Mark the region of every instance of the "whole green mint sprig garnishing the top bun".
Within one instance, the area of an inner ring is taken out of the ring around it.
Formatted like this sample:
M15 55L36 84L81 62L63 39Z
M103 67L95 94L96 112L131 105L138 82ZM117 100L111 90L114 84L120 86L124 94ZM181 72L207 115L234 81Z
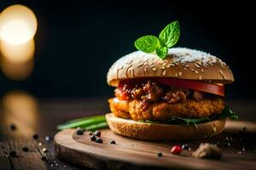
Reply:
M180 28L178 21L173 21L166 26L159 37L143 36L134 42L135 47L145 53L155 52L160 59L165 59L168 54L168 48L172 48L180 37Z

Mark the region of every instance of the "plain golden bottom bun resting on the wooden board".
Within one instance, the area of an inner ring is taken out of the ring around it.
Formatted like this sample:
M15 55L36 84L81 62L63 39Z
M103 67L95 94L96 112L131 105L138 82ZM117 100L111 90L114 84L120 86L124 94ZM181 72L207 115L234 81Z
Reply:
M211 137L224 130L225 119L195 125L136 122L106 114L109 128L123 136L143 140L190 140Z

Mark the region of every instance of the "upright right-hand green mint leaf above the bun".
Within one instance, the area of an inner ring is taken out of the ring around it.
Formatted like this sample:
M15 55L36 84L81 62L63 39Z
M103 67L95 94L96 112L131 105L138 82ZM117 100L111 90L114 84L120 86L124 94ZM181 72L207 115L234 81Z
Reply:
M166 26L159 35L160 43L167 48L172 48L180 36L178 21L174 21L168 26Z

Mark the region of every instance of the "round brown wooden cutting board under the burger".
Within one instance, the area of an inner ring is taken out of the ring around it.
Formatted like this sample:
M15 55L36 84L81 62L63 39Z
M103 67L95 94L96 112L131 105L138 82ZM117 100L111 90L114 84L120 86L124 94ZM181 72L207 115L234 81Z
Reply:
M150 142L128 139L103 129L102 144L90 140L90 132L77 135L67 129L55 135L55 154L64 161L95 169L254 169L256 167L255 135L221 133L210 139L190 142ZM111 140L116 144L110 144ZM220 160L191 157L201 142L218 143L223 150ZM172 155L173 144L189 144L190 150ZM244 147L244 148L243 148ZM244 149L244 150L243 150ZM163 156L159 157L161 152Z

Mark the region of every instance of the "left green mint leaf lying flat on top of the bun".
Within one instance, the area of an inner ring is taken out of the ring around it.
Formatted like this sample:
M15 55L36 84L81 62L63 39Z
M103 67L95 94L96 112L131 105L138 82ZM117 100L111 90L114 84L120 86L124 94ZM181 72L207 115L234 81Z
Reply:
M145 53L152 53L156 48L160 47L160 41L154 36L144 36L138 38L136 42L134 42L134 45L137 49Z

